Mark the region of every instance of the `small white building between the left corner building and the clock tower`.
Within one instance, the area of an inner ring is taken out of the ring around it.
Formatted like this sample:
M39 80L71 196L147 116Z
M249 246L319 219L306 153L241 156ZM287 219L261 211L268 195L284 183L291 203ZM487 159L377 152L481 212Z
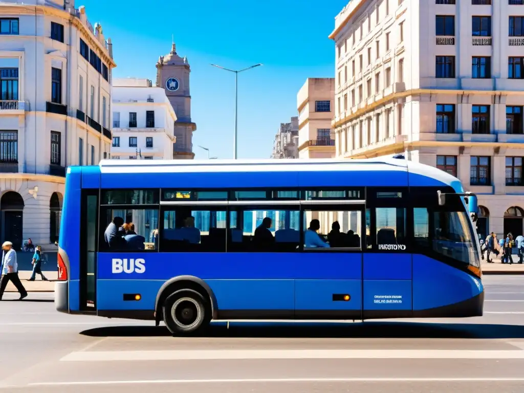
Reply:
M113 81L113 159L172 160L177 116L166 91L147 79Z

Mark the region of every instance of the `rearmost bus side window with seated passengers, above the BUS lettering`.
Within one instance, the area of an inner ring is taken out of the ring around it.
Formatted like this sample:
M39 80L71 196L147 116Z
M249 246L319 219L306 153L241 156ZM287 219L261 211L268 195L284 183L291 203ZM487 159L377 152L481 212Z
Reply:
M156 250L158 209L101 208L101 251Z

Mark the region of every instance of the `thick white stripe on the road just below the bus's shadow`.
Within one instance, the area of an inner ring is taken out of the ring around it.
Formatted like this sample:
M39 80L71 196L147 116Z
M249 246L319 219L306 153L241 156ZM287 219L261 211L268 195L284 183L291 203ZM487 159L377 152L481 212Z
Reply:
M202 350L71 352L61 362L238 359L524 359L524 351L471 350Z

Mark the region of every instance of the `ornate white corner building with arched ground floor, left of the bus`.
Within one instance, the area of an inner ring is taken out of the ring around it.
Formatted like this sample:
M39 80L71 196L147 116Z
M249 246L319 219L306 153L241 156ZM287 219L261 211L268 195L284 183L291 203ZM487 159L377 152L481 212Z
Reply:
M0 3L0 240L58 239L65 171L110 152L111 41L85 8Z

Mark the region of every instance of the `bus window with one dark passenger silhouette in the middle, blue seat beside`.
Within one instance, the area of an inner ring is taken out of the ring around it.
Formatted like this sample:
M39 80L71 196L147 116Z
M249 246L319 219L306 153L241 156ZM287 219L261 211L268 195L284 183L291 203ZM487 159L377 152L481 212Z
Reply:
M298 210L230 212L228 252L294 252L300 244Z

